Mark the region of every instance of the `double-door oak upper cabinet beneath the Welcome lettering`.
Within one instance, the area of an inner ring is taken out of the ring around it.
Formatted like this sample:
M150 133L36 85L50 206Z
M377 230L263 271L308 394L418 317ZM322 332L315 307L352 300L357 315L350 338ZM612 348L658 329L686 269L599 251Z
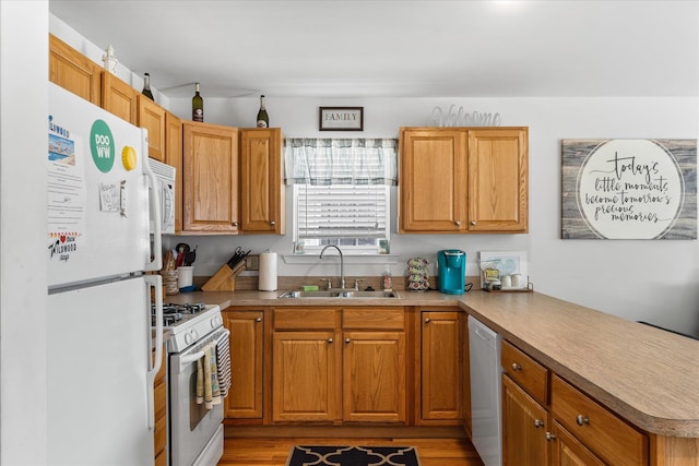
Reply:
M528 128L401 128L400 232L526 232L528 145Z

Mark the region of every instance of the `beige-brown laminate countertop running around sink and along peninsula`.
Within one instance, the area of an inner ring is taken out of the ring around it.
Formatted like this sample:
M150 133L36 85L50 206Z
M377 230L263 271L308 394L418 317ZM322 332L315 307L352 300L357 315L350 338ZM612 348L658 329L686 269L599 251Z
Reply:
M538 292L395 299L288 298L279 291L190 292L166 302L229 306L460 307L623 418L651 433L699 438L699 340ZM351 302L350 302L351 301Z

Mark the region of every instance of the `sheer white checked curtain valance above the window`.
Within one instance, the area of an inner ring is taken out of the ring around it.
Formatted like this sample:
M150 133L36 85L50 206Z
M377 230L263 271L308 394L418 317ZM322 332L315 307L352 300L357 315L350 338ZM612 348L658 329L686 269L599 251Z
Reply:
M398 184L395 139L287 139L287 184Z

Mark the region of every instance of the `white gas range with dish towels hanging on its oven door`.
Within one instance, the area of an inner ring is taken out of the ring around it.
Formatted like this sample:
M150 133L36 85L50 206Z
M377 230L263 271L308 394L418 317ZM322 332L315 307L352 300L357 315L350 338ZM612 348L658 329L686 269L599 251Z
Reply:
M163 320L169 332L169 464L215 466L223 456L223 401L209 407L197 401L198 371L206 345L227 348L229 332L218 306L166 303Z

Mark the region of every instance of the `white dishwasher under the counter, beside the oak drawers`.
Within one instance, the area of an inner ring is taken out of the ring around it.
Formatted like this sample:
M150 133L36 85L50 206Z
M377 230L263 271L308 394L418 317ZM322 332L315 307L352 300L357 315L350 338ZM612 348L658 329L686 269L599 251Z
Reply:
M485 466L502 465L502 337L469 315L472 439Z

